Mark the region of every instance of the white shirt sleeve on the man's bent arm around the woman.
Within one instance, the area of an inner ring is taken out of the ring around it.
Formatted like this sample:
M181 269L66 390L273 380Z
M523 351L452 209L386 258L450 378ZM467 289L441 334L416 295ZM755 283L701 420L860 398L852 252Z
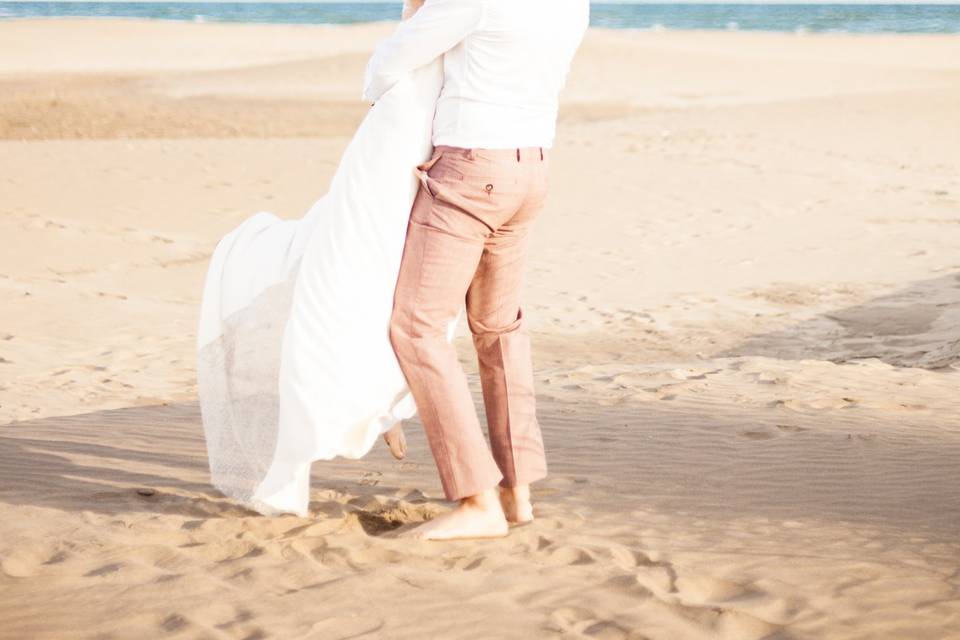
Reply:
M363 99L380 99L406 73L449 51L483 19L483 0L426 0L382 41L367 63Z

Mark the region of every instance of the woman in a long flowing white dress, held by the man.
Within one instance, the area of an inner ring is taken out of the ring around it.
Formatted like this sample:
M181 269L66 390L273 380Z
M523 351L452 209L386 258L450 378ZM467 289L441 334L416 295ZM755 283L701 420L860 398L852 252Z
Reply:
M388 327L442 82L441 58L403 78L303 218L257 213L213 252L197 336L211 481L264 515L307 514L315 460L360 458L381 435L404 455L416 407Z

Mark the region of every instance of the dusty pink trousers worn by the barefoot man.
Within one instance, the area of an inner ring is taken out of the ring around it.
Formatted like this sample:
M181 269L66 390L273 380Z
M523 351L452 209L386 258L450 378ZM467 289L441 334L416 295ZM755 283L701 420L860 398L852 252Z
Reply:
M418 167L390 339L448 500L546 476L530 338L520 308L549 150L438 146ZM449 322L466 303L487 414L484 440Z

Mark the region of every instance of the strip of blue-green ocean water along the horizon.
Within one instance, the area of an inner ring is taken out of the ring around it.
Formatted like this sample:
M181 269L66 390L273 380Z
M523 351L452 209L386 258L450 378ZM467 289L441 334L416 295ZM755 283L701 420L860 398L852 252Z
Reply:
M399 2L5 2L0 20L118 17L192 22L344 24L397 20ZM616 29L960 33L960 4L604 4L591 24Z

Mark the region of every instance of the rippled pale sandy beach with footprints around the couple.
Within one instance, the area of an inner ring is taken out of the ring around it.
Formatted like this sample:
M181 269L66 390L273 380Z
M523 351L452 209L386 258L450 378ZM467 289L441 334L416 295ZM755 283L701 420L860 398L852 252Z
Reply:
M588 33L533 526L391 537L449 508L416 422L309 518L209 486L207 261L325 192L391 29L0 22L0 638L960 638L955 36Z

